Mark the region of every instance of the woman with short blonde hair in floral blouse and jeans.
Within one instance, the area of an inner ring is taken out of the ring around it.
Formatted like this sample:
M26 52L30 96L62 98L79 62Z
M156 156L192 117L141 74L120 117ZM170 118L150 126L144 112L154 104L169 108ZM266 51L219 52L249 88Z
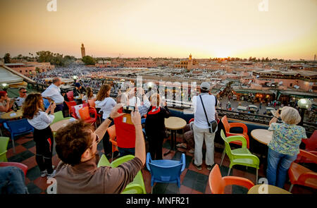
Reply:
M282 119L282 123L276 123L278 117ZM283 107L280 114L277 111L270 121L268 130L273 131L273 139L268 143L266 175L269 185L284 188L287 171L297 159L302 139L307 138L305 128L297 126L300 121L299 112L290 106Z

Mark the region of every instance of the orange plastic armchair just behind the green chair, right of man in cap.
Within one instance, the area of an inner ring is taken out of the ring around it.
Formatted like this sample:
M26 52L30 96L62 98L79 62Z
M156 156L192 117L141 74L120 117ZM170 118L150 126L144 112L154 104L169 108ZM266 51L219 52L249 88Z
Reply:
M218 121L218 123L220 120ZM230 137L234 135L241 135L247 140L247 148L249 149L249 136L248 136L248 128L247 125L244 123L229 123L227 116L223 116L221 118L221 122L223 123L223 127L225 128L225 136ZM243 129L242 133L230 133L230 128L240 127ZM235 145L242 145L242 142L240 141L232 141L230 142ZM223 155L221 156L221 161L223 161L223 158L225 157L225 149L223 149Z

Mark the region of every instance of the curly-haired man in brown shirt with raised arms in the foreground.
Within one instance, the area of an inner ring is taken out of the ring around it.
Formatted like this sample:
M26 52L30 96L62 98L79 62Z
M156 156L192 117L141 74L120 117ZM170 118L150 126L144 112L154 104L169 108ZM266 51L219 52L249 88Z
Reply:
M97 130L84 121L75 121L56 133L56 152L61 162L56 169L57 193L115 193L122 192L145 164L145 144L139 111L132 111L131 121L135 128L135 158L117 168L97 168L97 145L104 137L122 104L117 104Z

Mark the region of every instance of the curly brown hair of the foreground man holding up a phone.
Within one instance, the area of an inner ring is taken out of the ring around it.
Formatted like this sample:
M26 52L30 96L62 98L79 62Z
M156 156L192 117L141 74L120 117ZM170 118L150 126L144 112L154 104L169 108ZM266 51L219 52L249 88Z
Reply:
M56 153L61 161L72 166L80 164L82 154L92 145L92 125L84 121L73 121L60 128L55 137Z

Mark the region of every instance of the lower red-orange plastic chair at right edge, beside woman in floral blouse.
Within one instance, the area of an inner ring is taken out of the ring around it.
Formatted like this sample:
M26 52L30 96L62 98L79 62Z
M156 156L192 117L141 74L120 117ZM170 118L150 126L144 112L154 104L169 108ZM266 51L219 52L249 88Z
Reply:
M317 164L317 156L315 154L299 149L299 156L305 157ZM292 191L295 184L315 189L317 188L317 173L300 164L293 162L290 169L288 169L288 176L290 177L290 183L292 183L289 192Z

